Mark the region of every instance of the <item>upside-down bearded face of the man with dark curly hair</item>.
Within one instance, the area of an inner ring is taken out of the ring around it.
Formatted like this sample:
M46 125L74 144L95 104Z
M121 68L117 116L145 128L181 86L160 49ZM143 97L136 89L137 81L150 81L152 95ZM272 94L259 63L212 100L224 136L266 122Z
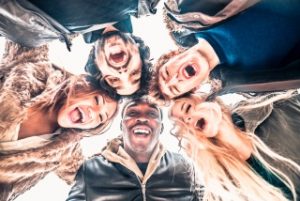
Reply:
M140 87L142 60L138 44L125 33L113 32L102 39L96 63L103 79L120 95L130 95Z

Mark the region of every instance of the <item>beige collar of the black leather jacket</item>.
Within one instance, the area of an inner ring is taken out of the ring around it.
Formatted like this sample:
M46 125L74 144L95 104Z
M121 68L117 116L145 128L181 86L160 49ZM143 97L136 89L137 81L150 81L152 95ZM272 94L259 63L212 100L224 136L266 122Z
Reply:
M160 163L160 159L163 157L165 152L166 150L164 146L159 142L155 146L154 151L150 157L145 175L143 175L135 160L124 150L123 139L121 137L111 140L104 148L104 151L101 153L101 155L108 161L119 163L128 168L140 178L142 184L145 184L151 177L151 175L155 172Z

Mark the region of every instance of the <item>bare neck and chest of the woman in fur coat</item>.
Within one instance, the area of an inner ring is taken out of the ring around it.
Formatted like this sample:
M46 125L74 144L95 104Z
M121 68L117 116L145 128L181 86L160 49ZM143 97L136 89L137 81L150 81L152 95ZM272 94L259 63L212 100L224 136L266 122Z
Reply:
M53 133L57 128L57 113L28 109L28 118L22 122L18 139Z

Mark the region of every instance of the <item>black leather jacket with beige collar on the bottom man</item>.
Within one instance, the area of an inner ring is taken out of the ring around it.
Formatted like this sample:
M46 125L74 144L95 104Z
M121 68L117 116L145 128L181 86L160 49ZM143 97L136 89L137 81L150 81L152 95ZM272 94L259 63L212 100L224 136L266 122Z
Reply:
M118 148L113 148L113 147ZM79 170L67 201L200 200L193 166L180 154L158 144L145 174L118 140Z

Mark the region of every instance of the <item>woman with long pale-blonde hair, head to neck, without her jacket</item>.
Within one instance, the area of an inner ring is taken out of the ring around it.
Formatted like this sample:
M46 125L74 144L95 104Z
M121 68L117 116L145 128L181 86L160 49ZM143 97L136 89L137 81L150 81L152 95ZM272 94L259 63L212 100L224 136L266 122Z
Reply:
M195 94L179 98L170 117L173 132L203 172L204 200L297 200L291 180L265 158L286 163L298 174L299 166L235 126L218 99L206 102Z

